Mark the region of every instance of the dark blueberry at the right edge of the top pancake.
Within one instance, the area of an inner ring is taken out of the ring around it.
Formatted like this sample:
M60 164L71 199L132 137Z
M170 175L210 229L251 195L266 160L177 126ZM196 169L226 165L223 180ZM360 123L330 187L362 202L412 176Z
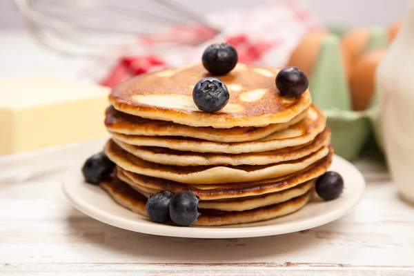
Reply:
M309 81L304 71L297 67L286 67L276 76L276 86L280 95L296 98L308 89Z

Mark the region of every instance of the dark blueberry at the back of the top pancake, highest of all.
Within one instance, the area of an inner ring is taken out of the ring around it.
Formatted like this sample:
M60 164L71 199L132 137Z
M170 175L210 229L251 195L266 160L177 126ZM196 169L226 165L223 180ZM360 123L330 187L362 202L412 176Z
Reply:
M228 43L211 44L204 50L203 66L213 75L226 75L237 64L237 51Z

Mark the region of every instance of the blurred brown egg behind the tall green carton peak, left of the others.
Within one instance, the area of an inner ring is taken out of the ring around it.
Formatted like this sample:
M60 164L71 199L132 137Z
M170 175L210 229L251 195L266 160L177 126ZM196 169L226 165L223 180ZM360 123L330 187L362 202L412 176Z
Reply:
M313 67L319 56L321 45L329 34L326 30L313 30L302 37L295 50L290 55L288 66L301 68L309 78L312 76ZM341 48L344 68L348 68L348 54L345 48Z

